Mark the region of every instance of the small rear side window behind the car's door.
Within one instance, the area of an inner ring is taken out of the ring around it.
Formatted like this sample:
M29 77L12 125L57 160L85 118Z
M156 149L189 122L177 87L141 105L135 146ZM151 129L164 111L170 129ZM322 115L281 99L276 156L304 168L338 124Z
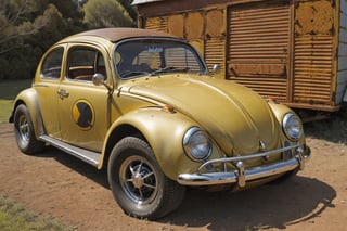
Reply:
M41 78L59 79L61 77L64 49L59 48L49 53L41 67Z

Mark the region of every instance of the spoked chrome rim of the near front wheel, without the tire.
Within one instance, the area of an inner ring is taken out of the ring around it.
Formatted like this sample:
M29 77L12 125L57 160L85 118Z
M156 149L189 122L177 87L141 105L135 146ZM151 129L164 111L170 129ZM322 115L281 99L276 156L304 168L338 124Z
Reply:
M151 204L158 193L154 167L141 156L126 158L119 170L119 180L127 196L137 204Z

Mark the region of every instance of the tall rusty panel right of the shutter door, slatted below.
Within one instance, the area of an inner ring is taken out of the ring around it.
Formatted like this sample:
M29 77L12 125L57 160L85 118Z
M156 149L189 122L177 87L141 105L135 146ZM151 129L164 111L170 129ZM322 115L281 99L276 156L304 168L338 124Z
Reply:
M295 18L294 102L332 105L335 74L331 1L300 2Z

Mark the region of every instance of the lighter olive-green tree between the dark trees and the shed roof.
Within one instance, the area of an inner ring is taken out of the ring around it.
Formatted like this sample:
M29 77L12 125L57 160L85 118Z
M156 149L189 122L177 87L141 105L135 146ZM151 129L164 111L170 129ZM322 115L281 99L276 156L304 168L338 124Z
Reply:
M89 28L136 26L136 21L117 0L89 0L83 10Z

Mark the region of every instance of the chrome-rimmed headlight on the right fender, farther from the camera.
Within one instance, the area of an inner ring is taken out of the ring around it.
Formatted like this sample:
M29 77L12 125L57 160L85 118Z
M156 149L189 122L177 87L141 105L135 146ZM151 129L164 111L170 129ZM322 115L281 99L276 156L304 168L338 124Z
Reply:
M303 136L303 124L300 118L288 113L283 118L283 130L286 137L292 141L298 141Z

